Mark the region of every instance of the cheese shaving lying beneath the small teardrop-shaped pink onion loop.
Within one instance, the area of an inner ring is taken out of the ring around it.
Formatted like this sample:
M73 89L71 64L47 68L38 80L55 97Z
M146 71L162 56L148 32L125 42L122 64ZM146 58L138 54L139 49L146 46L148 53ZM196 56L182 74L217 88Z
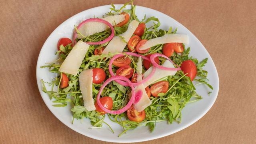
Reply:
M169 60L166 60L162 66L167 68L175 68L172 62L170 62ZM153 67L151 66L146 72L144 72L143 79L148 77L149 74L152 72L152 70L153 70ZM162 70L162 69L156 68L156 72L154 73L154 75L149 80L143 83L144 87L146 88L147 86L149 86L156 80L159 80L160 78L164 78L166 76L174 76L176 72L177 72L176 70Z

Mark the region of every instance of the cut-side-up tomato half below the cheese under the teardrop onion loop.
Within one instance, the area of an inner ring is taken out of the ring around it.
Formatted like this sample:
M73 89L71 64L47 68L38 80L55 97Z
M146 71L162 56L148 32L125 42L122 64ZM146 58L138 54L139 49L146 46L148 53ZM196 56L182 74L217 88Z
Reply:
M161 92L166 93L168 88L169 88L169 82L160 81L160 82L153 84L153 86L151 86L151 88L150 88L150 91L153 96L157 97L157 95Z

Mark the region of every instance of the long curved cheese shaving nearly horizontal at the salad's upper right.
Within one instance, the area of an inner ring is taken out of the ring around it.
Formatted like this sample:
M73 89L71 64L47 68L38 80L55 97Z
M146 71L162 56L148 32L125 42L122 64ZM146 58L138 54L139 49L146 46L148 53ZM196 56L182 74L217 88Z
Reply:
M188 44L189 39L187 34L165 34L164 36L153 38L148 40L143 46L140 47L140 50L146 50L157 44L166 44L170 42L179 42Z

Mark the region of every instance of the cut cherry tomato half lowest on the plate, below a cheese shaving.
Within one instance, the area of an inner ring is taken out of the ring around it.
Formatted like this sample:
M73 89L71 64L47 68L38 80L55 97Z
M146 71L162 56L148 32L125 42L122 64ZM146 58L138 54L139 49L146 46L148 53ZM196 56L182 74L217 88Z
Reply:
M142 122L142 120L145 119L146 113L145 110L142 110L141 112L137 112L133 106L131 106L127 110L127 116L129 120L132 120L134 122Z

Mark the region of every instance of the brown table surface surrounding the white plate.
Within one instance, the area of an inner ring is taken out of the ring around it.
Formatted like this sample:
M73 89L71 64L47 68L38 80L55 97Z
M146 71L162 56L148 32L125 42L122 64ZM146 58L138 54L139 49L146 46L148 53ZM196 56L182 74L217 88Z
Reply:
M45 40L83 10L127 0L0 0L0 143L98 143L60 122L36 84ZM188 128L145 144L256 143L256 1L136 0L188 28L211 55L220 79L209 112Z

